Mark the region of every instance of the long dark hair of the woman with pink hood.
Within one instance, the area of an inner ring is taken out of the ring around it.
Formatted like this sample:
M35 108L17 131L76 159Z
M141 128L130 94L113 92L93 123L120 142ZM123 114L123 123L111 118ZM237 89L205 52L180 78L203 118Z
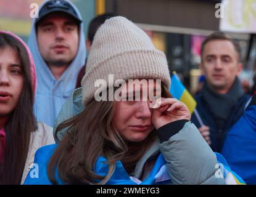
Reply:
M4 126L6 147L0 163L0 185L20 184L30 145L30 134L36 130L33 115L33 87L30 58L23 44L10 34L0 33L0 50L11 47L19 54L23 74L23 90L15 110Z

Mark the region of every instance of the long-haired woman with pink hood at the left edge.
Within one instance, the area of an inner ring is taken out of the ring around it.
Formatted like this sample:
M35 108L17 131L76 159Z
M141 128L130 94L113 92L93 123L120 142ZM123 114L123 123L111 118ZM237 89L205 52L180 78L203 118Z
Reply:
M0 31L0 185L20 184L38 148L54 143L52 128L36 123L36 70L25 42Z

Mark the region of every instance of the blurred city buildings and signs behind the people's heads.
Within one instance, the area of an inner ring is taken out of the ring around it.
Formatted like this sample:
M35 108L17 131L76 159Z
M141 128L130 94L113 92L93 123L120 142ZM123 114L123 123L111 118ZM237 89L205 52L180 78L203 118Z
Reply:
M0 0L0 30L13 31L27 41L31 28L30 5L41 2L43 0ZM103 13L122 15L140 26L152 38L155 47L165 52L170 70L179 74L192 94L197 90L200 76L202 41L213 31L225 31L241 47L244 71L240 78L252 86L256 60L256 0L72 2L81 12L85 34L90 20Z

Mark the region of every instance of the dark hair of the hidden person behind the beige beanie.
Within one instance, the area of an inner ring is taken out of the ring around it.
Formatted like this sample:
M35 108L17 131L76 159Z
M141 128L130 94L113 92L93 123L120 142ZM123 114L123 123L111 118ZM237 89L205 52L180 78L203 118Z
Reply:
M99 28L99 26L101 26L105 22L105 20L112 18L112 17L116 17L116 16L117 15L115 15L115 14L105 13L105 14L98 15L97 17L93 18L93 20L91 20L91 22L89 23L87 39L89 39L89 41L91 43L93 43L94 36L95 36L96 31Z

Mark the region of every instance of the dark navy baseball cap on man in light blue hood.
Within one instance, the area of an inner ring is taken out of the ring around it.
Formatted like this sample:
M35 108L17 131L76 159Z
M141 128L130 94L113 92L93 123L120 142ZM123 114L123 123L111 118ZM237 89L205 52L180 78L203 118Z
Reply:
M78 17L75 9L70 5L68 1L65 0L51 0L46 2L44 6L40 9L38 18L36 18L36 23L39 22L43 17L52 12L64 12L72 16L78 23L81 23L81 19Z

